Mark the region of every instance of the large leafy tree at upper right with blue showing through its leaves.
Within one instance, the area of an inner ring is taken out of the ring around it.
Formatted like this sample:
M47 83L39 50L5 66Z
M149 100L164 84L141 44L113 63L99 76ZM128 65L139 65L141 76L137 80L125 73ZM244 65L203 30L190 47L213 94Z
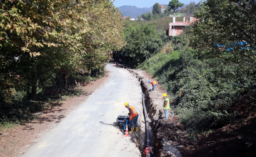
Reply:
M207 0L195 13L191 45L203 58L221 58L220 66L236 88L255 90L256 4L248 0ZM217 65L215 65L217 66Z

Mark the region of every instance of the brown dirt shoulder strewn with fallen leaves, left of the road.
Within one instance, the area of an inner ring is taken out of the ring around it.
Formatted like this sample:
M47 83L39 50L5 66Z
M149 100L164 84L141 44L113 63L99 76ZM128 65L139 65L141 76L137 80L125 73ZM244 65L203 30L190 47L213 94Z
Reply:
M106 71L104 77L82 87L86 89L85 93L64 100L61 106L55 106L51 110L38 114L37 118L24 125L15 125L13 128L1 130L0 156L17 157L24 154L29 147L37 143L40 137L82 104L91 93L101 88L108 77L109 73Z

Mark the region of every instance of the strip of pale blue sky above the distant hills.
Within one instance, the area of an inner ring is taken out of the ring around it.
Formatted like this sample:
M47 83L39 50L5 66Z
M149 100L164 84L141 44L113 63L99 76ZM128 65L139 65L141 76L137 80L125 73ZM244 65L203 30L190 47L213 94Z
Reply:
M113 1L113 0L112 0ZM159 4L169 4L171 0L115 0L114 5L116 7L121 7L123 5L134 5L139 8L152 7L155 3ZM184 4L189 4L191 1L199 3L201 0L179 0L179 2Z

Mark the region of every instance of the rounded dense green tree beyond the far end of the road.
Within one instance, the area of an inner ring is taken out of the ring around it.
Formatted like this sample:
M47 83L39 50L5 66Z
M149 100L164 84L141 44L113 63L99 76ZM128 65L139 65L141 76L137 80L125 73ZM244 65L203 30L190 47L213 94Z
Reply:
M126 36L126 46L118 51L118 57L123 60L137 64L143 62L146 58L158 53L163 46L160 35L155 28L149 24L131 25L124 28Z

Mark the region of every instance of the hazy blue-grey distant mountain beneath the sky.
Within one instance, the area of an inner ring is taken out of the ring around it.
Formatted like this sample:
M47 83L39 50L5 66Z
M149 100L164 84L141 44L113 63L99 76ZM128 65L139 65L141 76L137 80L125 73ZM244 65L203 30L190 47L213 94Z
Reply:
M132 18L137 17L144 13L151 12L152 9L153 9L153 6L138 8L136 6L123 5L123 6L119 7L119 10L123 13L123 16L130 16Z

